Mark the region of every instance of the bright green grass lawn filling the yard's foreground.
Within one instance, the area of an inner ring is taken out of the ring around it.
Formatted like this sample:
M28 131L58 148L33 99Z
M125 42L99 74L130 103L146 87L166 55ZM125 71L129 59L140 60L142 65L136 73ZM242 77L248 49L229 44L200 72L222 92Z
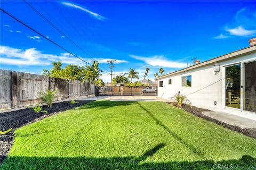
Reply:
M256 140L163 102L101 100L16 130L0 169L213 169L218 165L255 169Z

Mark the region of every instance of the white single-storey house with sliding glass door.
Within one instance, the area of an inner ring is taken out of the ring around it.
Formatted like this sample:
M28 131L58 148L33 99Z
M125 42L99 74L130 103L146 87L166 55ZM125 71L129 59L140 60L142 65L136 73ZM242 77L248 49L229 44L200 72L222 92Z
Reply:
M157 78L158 97L256 120L256 38L250 46Z

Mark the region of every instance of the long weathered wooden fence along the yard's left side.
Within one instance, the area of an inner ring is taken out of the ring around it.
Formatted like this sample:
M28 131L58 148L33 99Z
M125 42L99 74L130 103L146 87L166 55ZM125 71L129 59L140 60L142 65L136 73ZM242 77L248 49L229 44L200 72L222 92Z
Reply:
M54 101L94 95L94 84L0 69L0 109L35 105L48 89L58 91Z

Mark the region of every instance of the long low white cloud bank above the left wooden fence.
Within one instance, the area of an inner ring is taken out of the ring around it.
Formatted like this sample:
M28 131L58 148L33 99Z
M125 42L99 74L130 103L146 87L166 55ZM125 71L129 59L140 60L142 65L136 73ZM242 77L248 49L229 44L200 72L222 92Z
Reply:
M33 37L34 38L34 37ZM50 65L52 62L61 61L65 64L84 65L84 62L69 53L60 55L44 54L36 48L18 49L8 46L0 46L1 64L6 65ZM92 63L92 58L83 58L83 60ZM107 63L110 58L95 58L99 63ZM116 63L125 63L127 61L117 60Z

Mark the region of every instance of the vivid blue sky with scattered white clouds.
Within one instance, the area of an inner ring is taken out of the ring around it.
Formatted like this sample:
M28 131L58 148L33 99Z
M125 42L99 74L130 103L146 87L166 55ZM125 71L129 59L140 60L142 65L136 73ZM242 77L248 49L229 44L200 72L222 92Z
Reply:
M249 46L256 35L256 3L250 1L28 1L55 30L23 1L1 1L13 14L70 52L114 74L134 68L148 78L182 69L197 57L209 60ZM41 74L51 62L85 63L1 12L1 69ZM103 73L105 81L110 76Z

